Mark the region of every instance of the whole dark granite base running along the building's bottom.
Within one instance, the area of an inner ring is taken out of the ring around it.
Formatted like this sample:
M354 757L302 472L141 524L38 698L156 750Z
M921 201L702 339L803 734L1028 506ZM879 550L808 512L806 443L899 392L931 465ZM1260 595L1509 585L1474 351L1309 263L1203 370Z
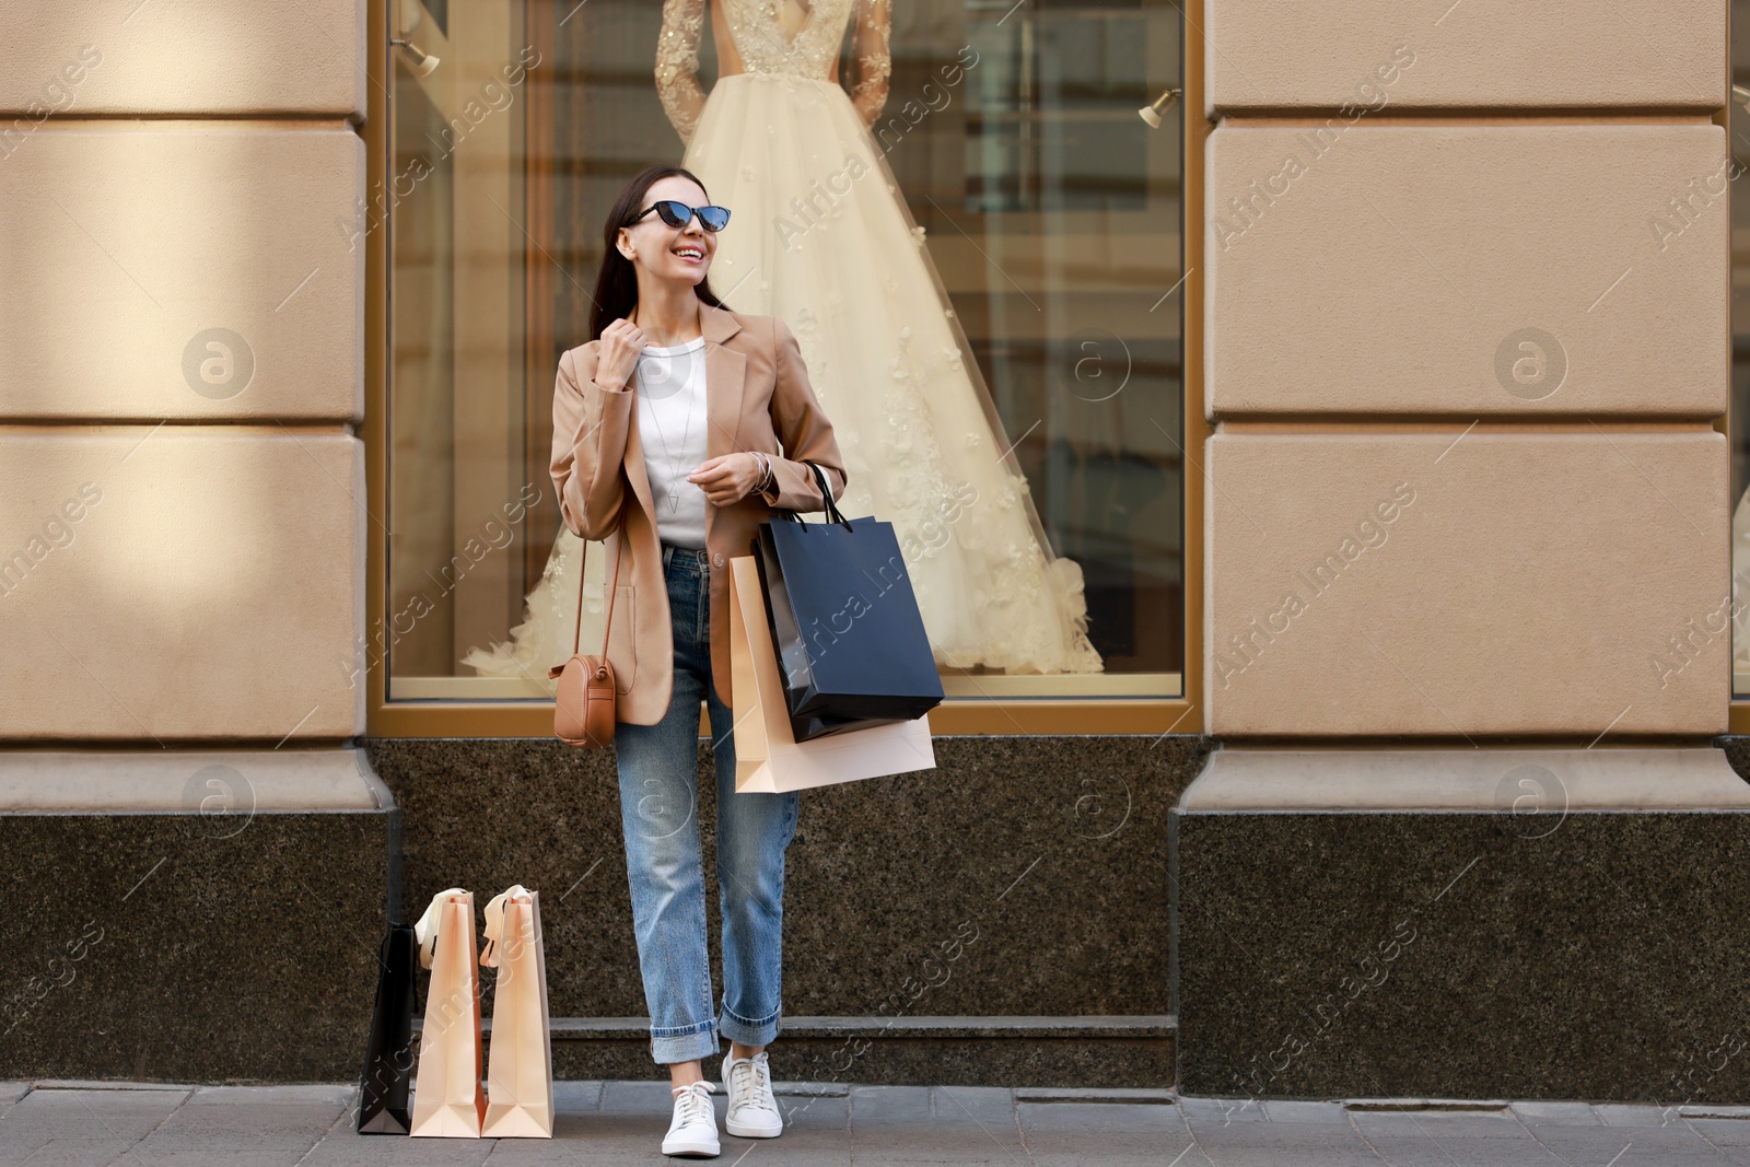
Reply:
M397 810L0 815L0 1078L352 1080L385 889L406 919L511 882L544 898L558 1073L654 1073L635 1029L564 1027L644 1015L612 756L366 747ZM836 1020L786 1076L875 1032L858 1081L1162 1085L1176 1045L1186 1094L1750 1102L1750 815L1176 814L1208 740L936 749L803 796L784 1008Z

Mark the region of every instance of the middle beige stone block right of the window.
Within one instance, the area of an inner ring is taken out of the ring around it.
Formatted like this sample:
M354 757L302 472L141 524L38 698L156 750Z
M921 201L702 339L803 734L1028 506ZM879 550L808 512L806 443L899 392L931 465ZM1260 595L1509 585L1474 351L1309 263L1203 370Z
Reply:
M1209 415L1726 413L1724 159L1706 124L1223 124Z

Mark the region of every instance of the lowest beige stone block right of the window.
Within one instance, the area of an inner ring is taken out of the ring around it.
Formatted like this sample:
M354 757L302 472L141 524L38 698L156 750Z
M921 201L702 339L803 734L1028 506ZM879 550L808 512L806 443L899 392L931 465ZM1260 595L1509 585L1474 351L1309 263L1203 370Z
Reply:
M1225 735L1726 728L1715 432L1216 434Z

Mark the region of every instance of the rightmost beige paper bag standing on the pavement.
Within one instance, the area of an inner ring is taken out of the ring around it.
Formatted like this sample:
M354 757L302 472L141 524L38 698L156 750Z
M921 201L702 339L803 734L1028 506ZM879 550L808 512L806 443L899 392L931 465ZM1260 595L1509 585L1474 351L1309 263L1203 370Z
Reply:
M546 1004L541 899L516 884L486 905L486 950L499 969L486 1050L486 1139L553 1137L553 1039Z

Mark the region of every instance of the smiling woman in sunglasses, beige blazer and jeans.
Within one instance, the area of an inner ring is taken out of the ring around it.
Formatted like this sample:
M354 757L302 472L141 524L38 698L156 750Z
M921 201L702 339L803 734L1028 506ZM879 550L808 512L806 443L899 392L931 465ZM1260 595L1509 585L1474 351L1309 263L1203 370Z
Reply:
M607 217L588 345L560 357L553 485L565 525L611 541L620 686L614 747L626 878L651 1013L668 1066L665 1155L716 1155L702 1059L730 1038L728 1132L782 1132L765 1046L777 1036L784 849L798 796L737 794L730 717L728 562L774 507L824 509L845 469L796 338L730 311L705 280L728 212L677 166L651 166ZM780 453L782 450L782 453ZM718 765L723 1010L712 1017L696 807L698 703Z

